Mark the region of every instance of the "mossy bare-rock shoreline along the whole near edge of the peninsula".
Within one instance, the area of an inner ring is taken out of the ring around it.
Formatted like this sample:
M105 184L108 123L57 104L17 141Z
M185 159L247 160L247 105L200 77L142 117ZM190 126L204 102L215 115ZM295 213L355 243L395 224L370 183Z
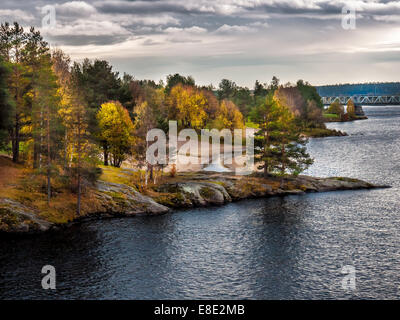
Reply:
M84 214L67 223L40 216L33 208L0 198L0 234L35 234L71 224L112 217L160 215L179 208L224 205L243 199L301 195L310 192L387 188L351 178L289 176L262 178L229 173L188 173L155 186L145 194L125 184L98 181Z

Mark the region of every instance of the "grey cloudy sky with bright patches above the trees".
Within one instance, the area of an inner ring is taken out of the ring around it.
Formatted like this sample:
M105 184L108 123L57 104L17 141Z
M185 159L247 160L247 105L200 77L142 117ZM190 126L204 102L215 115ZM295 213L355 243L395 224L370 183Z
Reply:
M46 5L55 27L43 28ZM355 29L342 27L345 5L356 10ZM400 80L400 1L1 0L0 21L14 20L74 60L106 59L137 79L178 72L248 87L273 75L315 85Z

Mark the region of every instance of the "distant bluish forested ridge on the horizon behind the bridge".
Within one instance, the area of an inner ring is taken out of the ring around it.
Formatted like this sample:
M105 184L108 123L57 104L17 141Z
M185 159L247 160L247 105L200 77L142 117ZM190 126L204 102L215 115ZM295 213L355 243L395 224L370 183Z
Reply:
M399 95L400 82L357 83L317 86L321 97L353 95Z

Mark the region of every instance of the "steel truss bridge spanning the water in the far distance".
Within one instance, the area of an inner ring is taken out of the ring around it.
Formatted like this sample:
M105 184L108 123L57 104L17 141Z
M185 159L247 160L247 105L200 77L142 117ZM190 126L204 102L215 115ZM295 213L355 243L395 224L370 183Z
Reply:
M358 105L400 105L400 95L353 95L353 96L321 96L324 105L330 105L334 101L347 104L351 99Z

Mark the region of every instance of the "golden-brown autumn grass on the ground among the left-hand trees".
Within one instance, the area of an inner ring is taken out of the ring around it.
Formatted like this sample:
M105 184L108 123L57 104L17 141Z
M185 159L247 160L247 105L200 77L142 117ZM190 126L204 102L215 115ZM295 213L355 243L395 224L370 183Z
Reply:
M99 180L127 185L139 190L143 194L153 197L160 203L168 204L172 207L180 207L185 202L185 198L180 194L156 192L151 181L145 189L140 186L143 181L143 172L131 171L125 168L115 168L112 166L99 166L102 173ZM190 179L192 174L184 174L174 178L167 177L164 173L158 177L161 183L172 181L185 181ZM53 223L67 223L77 218L76 203L77 195L66 185L60 185L57 179L52 179L52 198L50 205L47 203L45 192L46 177L35 174L34 170L25 168L21 164L14 164L11 158L0 155L0 198L14 200L26 207L39 217ZM126 196L117 192L104 192L112 198L116 205L123 207L126 205ZM82 194L81 216L95 212L103 212L104 198L92 187L87 186L86 192ZM0 225L11 223L12 216L5 214L5 208L0 207Z

